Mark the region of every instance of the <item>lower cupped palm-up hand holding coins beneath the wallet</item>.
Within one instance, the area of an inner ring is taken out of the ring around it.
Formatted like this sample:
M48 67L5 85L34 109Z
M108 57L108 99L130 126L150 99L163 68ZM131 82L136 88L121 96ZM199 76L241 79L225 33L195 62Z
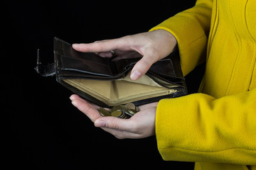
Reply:
M96 127L110 132L118 139L144 138L155 134L156 106L158 102L139 106L139 112L134 116L129 119L120 119L112 116L102 116L99 112L100 106L89 103L78 95L73 94L70 96L70 100L75 107L95 123Z

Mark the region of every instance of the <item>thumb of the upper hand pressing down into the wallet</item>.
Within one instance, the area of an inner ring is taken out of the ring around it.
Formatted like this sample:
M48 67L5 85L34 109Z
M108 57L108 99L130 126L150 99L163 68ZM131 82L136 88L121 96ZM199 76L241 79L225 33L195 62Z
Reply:
M134 65L130 78L134 81L141 78L144 74L146 74L154 62L155 61L152 60L151 57L142 57L142 59Z

